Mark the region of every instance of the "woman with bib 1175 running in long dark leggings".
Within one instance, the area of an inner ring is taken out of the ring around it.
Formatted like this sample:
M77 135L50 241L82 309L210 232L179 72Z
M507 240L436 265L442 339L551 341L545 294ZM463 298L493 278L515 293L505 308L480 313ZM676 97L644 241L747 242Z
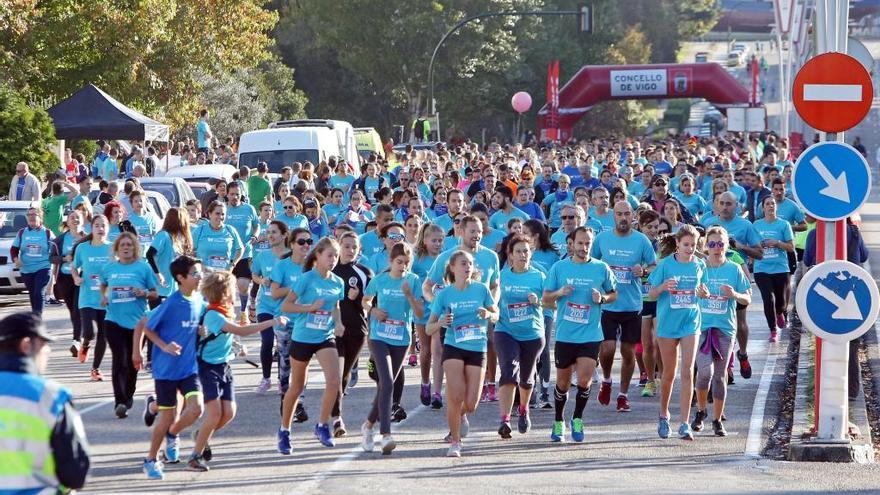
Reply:
M388 251L390 266L377 274L364 291L363 304L370 310L370 354L376 365L378 387L373 407L361 426L364 452L372 452L374 425L379 421L382 435L382 453L390 454L396 446L391 437L391 403L394 381L400 374L403 358L410 345L413 316L422 317L419 277L412 273L413 251L405 242L398 241Z

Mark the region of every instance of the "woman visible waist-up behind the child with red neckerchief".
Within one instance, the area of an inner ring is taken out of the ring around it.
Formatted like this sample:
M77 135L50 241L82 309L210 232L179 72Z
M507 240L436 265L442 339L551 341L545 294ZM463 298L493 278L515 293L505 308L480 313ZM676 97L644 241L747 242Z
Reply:
M193 246L206 271L231 271L244 253L238 232L226 223L226 203L212 201L208 222L196 230Z

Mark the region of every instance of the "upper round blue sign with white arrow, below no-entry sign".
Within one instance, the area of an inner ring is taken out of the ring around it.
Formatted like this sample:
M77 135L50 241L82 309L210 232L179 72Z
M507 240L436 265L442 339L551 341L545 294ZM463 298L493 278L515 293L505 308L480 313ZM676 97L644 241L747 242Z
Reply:
M871 169L865 157L846 143L817 143L798 157L791 187L807 213L819 220L840 220L868 199Z

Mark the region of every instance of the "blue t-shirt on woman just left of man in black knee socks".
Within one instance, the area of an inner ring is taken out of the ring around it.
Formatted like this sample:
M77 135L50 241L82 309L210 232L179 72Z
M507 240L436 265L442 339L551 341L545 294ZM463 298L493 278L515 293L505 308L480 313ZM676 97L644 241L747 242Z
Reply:
M501 317L495 326L515 340L524 342L544 336L544 315L541 305L532 305L529 294L541 301L546 276L537 268L514 273L510 267L501 270L501 300L498 304Z

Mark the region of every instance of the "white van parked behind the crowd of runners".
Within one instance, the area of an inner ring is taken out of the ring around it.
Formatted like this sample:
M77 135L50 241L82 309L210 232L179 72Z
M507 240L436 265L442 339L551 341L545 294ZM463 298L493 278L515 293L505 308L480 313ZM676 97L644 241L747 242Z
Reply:
M269 173L278 174L294 162L317 165L331 156L357 164L357 145L351 124L339 120L282 120L268 129L246 132L238 144L238 163L255 168L269 164ZM360 167L353 167L355 175Z

